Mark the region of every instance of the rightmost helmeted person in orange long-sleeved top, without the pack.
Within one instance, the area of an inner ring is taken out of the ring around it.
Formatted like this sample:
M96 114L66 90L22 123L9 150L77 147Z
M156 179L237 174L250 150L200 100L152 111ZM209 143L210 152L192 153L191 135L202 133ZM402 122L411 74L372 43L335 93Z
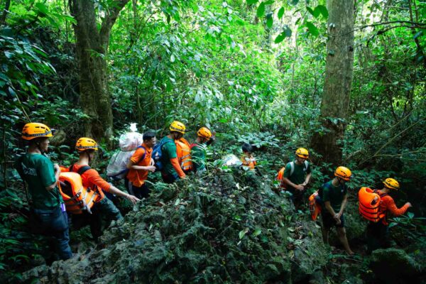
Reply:
M410 202L406 202L403 207L396 207L395 201L391 197L391 193L400 189L399 182L393 178L386 178L383 181L383 188L375 190L381 197L378 207L378 216L381 217L378 222L369 222L367 225L367 253L379 248L390 246L389 241L389 223L390 215L397 217L404 214L408 208L412 207Z

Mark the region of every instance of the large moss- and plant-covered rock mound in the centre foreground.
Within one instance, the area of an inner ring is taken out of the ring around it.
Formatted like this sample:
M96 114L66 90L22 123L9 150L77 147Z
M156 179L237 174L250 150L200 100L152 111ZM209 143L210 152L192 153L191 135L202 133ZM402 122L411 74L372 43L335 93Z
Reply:
M23 275L38 283L294 283L327 263L314 222L253 173L158 184L102 244Z

